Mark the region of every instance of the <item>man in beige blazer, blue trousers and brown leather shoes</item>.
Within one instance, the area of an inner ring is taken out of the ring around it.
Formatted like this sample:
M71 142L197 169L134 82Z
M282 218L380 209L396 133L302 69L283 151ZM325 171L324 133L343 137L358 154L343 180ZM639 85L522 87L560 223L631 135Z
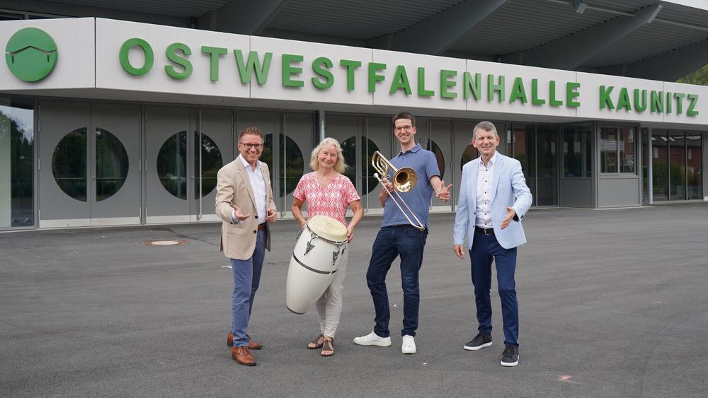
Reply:
M234 273L232 329L227 344L241 365L256 365L250 350L261 349L247 334L261 281L265 249L270 251L268 223L277 215L268 165L262 163L263 132L246 127L239 134L240 155L217 174L216 213L222 223L220 250L231 259Z

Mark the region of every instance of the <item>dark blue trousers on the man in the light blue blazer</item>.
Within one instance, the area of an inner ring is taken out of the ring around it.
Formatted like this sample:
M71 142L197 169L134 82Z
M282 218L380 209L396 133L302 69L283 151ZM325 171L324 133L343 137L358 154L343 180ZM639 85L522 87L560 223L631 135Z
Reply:
M501 315L504 322L504 344L519 346L519 305L516 300L516 247L505 249L494 235L474 232L469 261L472 262L474 302L477 307L479 332L491 336L491 262L496 263L496 281L501 298Z

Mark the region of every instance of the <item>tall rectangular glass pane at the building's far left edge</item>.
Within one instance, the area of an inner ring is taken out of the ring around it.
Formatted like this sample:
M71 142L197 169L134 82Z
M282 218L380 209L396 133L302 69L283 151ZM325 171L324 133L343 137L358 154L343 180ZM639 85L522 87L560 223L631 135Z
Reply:
M34 104L0 98L0 228L34 225Z

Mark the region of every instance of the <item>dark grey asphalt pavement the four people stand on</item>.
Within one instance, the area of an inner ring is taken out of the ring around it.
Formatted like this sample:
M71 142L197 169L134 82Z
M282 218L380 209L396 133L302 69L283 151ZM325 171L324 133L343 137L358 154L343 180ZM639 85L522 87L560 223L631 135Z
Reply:
M532 209L515 368L499 364L496 281L494 344L462 349L476 318L453 220L430 216L418 353L403 355L398 260L387 279L393 346L352 342L374 325L365 272L381 218L364 218L331 358L306 349L319 334L314 310L285 308L297 225L275 223L249 329L265 347L250 368L226 346L233 284L219 225L1 233L0 396L708 396L708 203ZM173 239L187 243L141 245Z

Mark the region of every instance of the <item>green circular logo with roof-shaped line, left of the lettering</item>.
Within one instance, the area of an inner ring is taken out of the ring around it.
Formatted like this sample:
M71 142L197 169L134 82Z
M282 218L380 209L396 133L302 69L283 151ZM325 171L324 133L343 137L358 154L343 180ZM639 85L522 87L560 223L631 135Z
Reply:
M5 47L5 62L13 75L23 81L40 81L57 64L57 43L44 30L18 30Z

